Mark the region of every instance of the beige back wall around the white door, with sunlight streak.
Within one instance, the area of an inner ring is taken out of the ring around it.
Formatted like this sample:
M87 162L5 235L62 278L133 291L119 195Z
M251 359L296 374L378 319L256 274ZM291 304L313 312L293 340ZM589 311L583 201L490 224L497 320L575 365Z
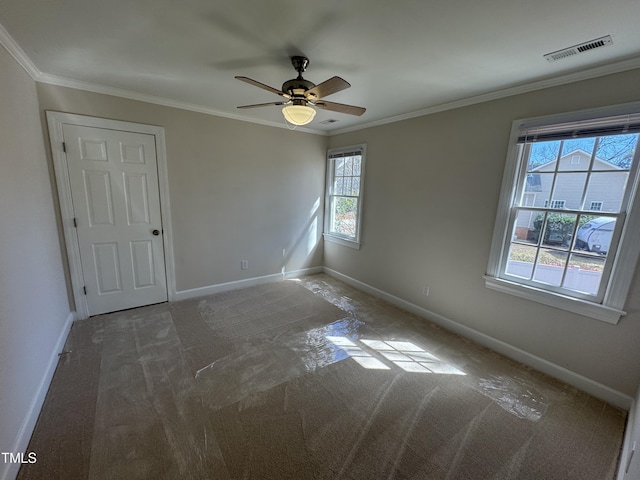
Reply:
M178 291L322 265L327 137L52 85L37 89L43 111L165 128Z

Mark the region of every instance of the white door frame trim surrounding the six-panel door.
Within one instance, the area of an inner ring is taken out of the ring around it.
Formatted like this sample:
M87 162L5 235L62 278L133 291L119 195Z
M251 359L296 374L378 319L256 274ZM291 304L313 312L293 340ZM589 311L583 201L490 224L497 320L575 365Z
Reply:
M80 261L80 245L74 226L75 212L71 199L71 183L69 181L69 169L67 155L63 149L64 135L63 125L78 125L84 127L105 128L109 130L122 130L132 133L153 135L156 146L156 164L158 169L158 187L160 192L160 216L162 219L162 238L164 247L165 276L167 281L167 299L175 300L176 280L175 264L173 258L173 235L171 232L171 210L169 203L169 178L167 170L167 152L165 147L164 128L141 123L110 120L106 118L89 117L72 113L47 111L47 124L49 127L49 141L55 172L58 203L62 220L62 230L67 252L69 275L73 300L76 308L76 319L89 318L89 306L84 294L84 275Z

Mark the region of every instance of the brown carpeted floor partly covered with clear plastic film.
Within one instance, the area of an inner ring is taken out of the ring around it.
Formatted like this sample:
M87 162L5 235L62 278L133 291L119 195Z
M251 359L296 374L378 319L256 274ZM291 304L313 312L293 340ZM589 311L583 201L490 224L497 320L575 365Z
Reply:
M326 275L76 322L19 479L613 479L626 413Z

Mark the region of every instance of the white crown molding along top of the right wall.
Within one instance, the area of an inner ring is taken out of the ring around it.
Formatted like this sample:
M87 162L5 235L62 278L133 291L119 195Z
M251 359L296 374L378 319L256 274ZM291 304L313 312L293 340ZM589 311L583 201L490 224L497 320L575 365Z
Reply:
M473 97L467 97L461 100L455 100L453 102L442 103L440 105L434 105L433 107L427 107L421 110L416 110L415 112L403 113L401 115L394 115L392 117L382 118L380 120L374 120L373 122L354 125L353 127L346 127L342 129L331 130L329 132L329 136L355 132L357 130L377 127L379 125L386 125L388 123L401 122L403 120L408 120L411 118L423 117L425 115L444 112L446 110L453 110L455 108L468 107L470 105L475 105L477 103L489 102L491 100L498 100L501 98L520 95L523 93L534 92L536 90L543 90L545 88L557 87L560 85L566 85L569 83L579 82L582 80L590 80L592 78L603 77L605 75L611 75L614 73L626 72L628 70L634 70L636 68L640 68L640 57L623 60L620 62L608 64L608 65L602 65L600 67L595 67L588 70L582 70L580 72L574 72L567 75L561 75L559 77L553 77L545 80L539 80L536 82L518 85L515 87L504 88L504 89L496 90L494 92L475 95Z

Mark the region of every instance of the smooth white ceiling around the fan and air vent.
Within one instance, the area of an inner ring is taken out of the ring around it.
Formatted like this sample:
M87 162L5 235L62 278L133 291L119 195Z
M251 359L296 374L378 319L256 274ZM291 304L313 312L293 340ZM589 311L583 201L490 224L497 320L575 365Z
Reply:
M367 108L308 126L335 132L640 67L638 19L638 0L2 0L0 40L40 81L279 126L279 107L236 109L280 97L234 76L280 89L303 54L306 79L351 83L328 100Z

